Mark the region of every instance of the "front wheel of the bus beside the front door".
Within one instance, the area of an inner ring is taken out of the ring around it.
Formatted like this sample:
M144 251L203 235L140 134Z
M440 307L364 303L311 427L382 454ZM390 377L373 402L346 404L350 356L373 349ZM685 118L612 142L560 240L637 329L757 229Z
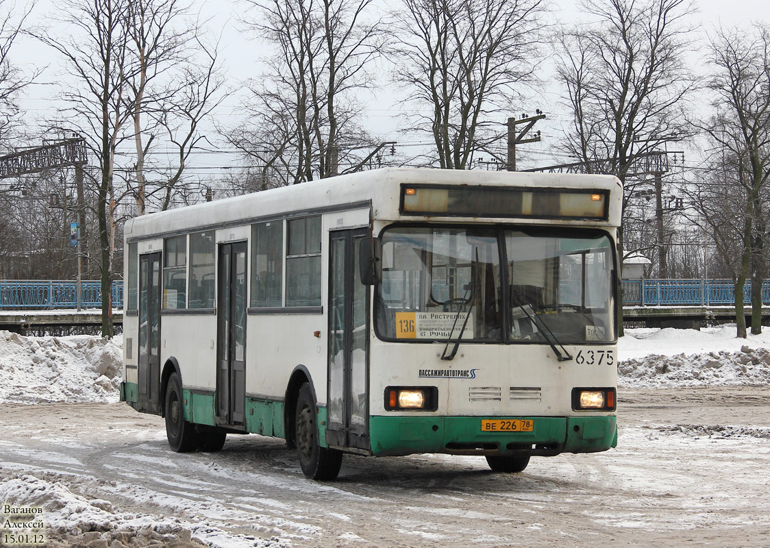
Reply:
M318 444L318 410L310 384L300 388L296 399L295 440L300 467L308 479L334 479L340 473L342 452Z

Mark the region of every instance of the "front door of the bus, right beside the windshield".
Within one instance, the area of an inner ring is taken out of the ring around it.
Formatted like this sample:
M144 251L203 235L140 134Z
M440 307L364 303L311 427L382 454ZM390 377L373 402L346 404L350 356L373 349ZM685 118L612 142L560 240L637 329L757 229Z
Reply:
M329 272L329 393L326 441L369 449L369 288L361 283L363 229L332 232Z

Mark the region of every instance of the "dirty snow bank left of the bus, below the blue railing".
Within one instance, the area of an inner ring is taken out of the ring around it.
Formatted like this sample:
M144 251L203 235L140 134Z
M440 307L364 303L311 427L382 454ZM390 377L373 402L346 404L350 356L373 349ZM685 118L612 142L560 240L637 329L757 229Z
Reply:
M122 338L0 331L0 402L116 402Z

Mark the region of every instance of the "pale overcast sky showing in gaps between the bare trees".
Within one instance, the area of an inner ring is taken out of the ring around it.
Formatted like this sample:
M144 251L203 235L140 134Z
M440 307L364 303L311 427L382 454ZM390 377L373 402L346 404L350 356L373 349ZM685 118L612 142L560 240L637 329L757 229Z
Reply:
M18 5L22 5L23 0L17 0ZM245 12L244 2L233 2L233 0L191 0L192 5L199 9L202 18L209 19L210 32L213 35L221 33L220 58L223 61L229 84L234 88L249 78L258 78L259 73L263 71L263 66L259 64L259 58L266 52L266 47L262 42L255 39L249 39L248 35L240 32L243 25L239 22L239 15ZM387 5L384 0L377 0L382 5ZM55 5L53 0L38 0L31 20L35 24L41 24L44 15L50 12L51 7ZM575 8L575 2L569 0L554 0L552 2L554 10L551 18L562 22L571 21L579 17ZM706 32L711 32L719 25L747 25L751 18L764 17L768 19L766 2L761 0L734 0L733 2L718 2L718 0L701 0L695 2L698 13L693 17L693 22L698 29L696 35L704 38ZM698 22L700 23L698 25ZM694 36L695 38L695 36ZM695 51L698 52L696 46ZM57 101L52 98L52 82L66 78L62 75L62 67L57 58L51 54L44 46L35 42L32 38L24 38L18 43L18 47L13 52L15 62L27 67L39 66L43 62L46 69L41 78L35 85L28 88L28 94L22 99L22 107L27 112L27 119L33 124L35 119L45 118L51 115L57 108ZM698 55L693 58L693 63L699 62ZM544 66L547 66L546 62ZM548 77L544 76L547 82ZM520 165L525 167L534 167L537 165L552 165L553 163L568 162L564 155L554 154L554 146L561 135L560 126L568 122L568 116L564 107L560 105L559 90L555 85L544 85L542 89L532 90L520 109L516 109L515 115L521 115L522 112L534 113L535 109L541 109L546 113L547 119L539 122L535 129L542 132L542 140L539 143L527 145L527 148L521 148L521 153L527 156L522 159ZM230 92L222 105L217 109L217 119L222 125L235 123L242 117L241 115L241 93L237 91ZM396 141L399 145L406 147L414 142L414 137L408 137L400 134L399 120L397 115L402 112L404 105L399 97L393 92L393 86L384 78L380 82L376 92L366 94L361 97L361 101L367 105L367 120L363 124L374 135L380 136L383 141ZM504 118L500 122L504 122ZM424 140L424 139L423 139ZM219 143L219 148L231 150L231 147ZM403 149L402 149L403 150ZM201 170L199 174L216 175L220 166L232 165L236 162L233 154L206 154L200 155L196 159L196 165ZM222 171L223 172L223 171Z

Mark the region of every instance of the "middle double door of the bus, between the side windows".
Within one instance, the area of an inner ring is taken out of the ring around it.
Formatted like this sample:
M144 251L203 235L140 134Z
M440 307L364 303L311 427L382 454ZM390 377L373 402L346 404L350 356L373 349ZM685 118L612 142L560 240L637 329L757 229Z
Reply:
M246 242L219 245L216 423L246 423Z

